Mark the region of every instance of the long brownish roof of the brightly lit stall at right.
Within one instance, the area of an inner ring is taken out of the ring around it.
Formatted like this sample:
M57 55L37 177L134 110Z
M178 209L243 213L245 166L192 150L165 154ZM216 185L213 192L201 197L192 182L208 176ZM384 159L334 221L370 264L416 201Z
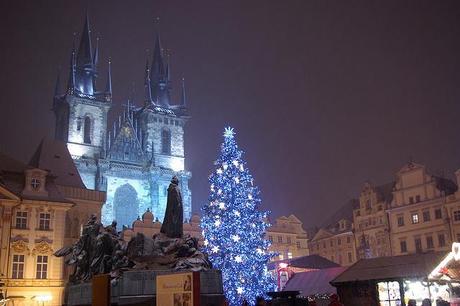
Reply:
M446 254L447 252L433 252L361 259L332 280L331 284L428 277Z

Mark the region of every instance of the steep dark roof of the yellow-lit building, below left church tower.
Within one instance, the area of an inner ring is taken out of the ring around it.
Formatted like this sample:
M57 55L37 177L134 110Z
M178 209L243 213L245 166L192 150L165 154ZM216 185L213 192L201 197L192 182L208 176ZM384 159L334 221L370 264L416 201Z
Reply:
M29 166L48 171L62 186L86 188L64 142L44 138L30 159Z

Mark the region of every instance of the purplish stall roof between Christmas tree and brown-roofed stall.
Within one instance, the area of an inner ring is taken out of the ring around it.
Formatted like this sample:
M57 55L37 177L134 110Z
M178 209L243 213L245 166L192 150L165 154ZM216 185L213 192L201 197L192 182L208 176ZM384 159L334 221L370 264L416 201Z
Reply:
M345 269L345 267L336 267L296 273L289 279L283 291L300 291L304 296L336 293L330 281Z

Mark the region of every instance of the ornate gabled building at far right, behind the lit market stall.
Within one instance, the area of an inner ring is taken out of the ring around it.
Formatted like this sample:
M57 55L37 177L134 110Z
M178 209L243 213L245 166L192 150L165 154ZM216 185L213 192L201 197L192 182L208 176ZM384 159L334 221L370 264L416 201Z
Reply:
M427 173L423 165L410 162L401 168L387 210L392 254L450 250L452 220L446 202L456 191L453 181Z

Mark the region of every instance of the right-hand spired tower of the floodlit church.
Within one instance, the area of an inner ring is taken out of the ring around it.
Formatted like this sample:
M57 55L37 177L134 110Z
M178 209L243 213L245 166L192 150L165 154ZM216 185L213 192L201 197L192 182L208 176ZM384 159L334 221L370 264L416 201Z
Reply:
M186 107L185 84L182 80L181 101L171 101L170 63L163 54L160 35L155 39L152 64L145 67L143 107L136 117L142 133L144 151L151 156L152 166L169 169L179 177L184 200L184 216L191 217L191 191L188 180L191 173L185 170L184 126L190 118ZM164 216L170 174L165 171L152 172L153 211Z

